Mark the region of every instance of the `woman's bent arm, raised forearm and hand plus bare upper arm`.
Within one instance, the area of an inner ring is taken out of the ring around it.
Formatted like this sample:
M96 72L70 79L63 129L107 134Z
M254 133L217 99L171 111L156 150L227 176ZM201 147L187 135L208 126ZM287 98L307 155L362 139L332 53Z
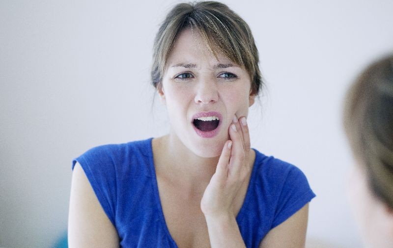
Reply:
M245 119L243 120L245 121ZM205 215L210 245L215 247L245 247L233 212L234 193L239 190L246 174L251 173L248 161L250 135L248 125L234 119L235 129L229 127L231 142L226 142L220 156L216 173L210 180L202 200L201 210ZM241 130L241 131L240 131ZM276 226L265 236L260 248L304 248L309 204L303 206L289 219Z

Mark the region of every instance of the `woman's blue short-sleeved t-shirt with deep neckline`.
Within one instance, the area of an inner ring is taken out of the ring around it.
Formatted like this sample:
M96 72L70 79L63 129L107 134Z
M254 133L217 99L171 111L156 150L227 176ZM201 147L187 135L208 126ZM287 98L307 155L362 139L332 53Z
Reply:
M151 140L96 147L73 161L72 169L77 161L81 164L116 228L120 247L177 248L161 207ZM246 198L236 217L246 246L258 247L269 230L314 197L297 167L255 150Z

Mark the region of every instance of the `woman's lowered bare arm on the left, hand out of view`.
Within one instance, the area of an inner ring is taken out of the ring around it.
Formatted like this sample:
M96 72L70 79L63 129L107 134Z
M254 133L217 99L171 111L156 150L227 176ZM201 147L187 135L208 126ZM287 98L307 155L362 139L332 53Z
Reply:
M117 231L79 163L72 173L68 245L70 248L119 247Z

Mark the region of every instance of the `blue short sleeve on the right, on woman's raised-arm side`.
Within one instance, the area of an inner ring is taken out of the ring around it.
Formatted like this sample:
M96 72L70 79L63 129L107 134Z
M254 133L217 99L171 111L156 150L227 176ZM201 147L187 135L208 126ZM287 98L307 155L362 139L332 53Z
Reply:
M295 166L288 167L271 228L287 220L314 197L305 174Z

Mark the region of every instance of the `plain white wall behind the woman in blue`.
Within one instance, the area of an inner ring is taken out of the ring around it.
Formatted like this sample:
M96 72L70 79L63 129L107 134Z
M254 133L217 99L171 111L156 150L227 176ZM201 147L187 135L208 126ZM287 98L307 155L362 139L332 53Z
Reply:
M355 75L393 50L393 1L225 3L251 26L268 88L250 113L253 147L308 176L310 240L360 247L341 105ZM64 233L72 158L166 133L149 68L172 5L0 1L0 247L50 247Z

